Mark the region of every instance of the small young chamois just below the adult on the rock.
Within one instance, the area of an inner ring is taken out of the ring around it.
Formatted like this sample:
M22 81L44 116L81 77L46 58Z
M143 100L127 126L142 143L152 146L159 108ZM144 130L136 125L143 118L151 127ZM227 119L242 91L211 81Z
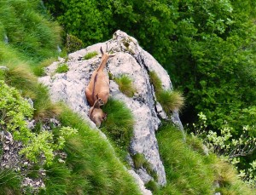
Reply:
M102 121L107 118L107 114L104 113L101 108L101 106L103 105L104 105L104 102L102 98L99 98L98 95L96 95L96 101L94 102L94 105L90 107L89 117L90 117L90 120L96 123L97 127L100 127L102 124Z

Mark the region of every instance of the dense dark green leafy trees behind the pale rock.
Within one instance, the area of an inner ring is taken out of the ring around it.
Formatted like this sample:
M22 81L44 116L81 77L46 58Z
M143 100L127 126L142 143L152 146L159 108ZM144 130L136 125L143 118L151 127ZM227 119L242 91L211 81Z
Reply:
M207 117L207 131L229 126L238 138L243 128L255 137L256 4L252 0L44 0L64 30L84 45L120 29L160 61L183 92L183 123ZM93 15L93 16L92 16ZM193 127L192 127L193 129ZM248 168L255 150L240 156Z

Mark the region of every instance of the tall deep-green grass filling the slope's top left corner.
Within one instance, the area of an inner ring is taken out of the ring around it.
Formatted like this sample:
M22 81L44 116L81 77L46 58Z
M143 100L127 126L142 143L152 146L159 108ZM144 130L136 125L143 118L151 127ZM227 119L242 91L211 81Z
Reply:
M61 28L50 21L39 0L0 1L0 37L27 60L40 61L57 54ZM3 40L1 38L1 40Z

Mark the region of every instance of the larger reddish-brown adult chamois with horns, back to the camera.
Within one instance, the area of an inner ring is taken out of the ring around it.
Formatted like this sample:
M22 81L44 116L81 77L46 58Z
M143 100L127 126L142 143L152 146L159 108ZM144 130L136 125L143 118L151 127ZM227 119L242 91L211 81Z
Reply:
M109 79L105 72L103 72L103 70L108 62L108 59L113 57L114 55L103 53L102 47L101 53L101 64L94 72L92 72L92 75L90 77L90 83L85 89L86 99L88 100L90 106L94 105L94 102L96 101L96 95L98 95L98 97L103 100L104 104L106 104L108 101Z

